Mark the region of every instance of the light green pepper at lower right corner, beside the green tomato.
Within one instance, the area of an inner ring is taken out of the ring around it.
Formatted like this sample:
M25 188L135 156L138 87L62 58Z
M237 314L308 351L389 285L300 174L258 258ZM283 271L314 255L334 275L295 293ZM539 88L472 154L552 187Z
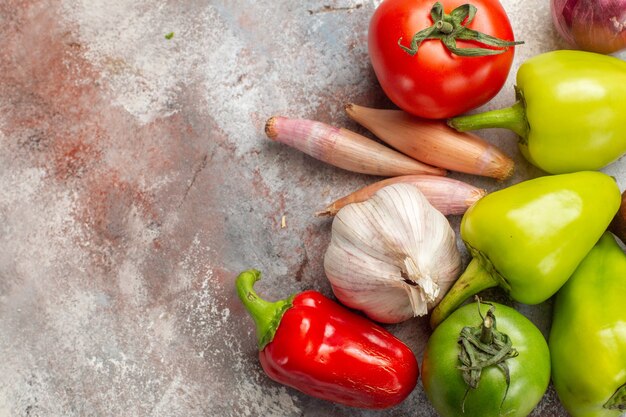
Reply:
M559 290L550 331L552 380L573 417L626 410L626 254L610 233Z

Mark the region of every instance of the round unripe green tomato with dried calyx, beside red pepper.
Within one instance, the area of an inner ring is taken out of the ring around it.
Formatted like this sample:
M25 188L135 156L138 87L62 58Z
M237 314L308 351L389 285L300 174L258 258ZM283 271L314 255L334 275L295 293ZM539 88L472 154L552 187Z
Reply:
M524 417L548 388L550 352L514 309L472 303L433 332L422 381L441 417Z

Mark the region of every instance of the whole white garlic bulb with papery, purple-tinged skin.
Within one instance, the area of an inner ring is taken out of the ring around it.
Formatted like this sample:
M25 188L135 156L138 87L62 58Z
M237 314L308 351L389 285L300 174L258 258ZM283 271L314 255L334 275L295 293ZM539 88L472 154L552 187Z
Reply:
M398 323L443 298L461 256L445 216L414 185L393 184L339 210L324 269L342 303Z

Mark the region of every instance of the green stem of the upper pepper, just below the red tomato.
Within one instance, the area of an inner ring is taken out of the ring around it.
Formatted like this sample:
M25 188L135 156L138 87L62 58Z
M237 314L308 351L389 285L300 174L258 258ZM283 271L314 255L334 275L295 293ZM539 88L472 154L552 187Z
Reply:
M459 132L500 127L512 130L517 133L522 140L525 140L528 136L526 108L522 100L519 100L511 107L506 107L504 109L453 117L448 120L448 126L458 130Z

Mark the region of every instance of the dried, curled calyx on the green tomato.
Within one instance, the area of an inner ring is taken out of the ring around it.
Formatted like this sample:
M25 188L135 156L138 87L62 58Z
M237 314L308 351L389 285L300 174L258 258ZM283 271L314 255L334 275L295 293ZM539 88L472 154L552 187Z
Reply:
M506 391L500 403L500 406L502 406L511 384L511 376L506 360L518 355L509 336L496 328L495 306L483 303L491 305L485 316L483 316L480 312L481 301L478 296L476 297L476 302L478 314L482 322L475 327L465 326L461 330L458 341L461 348L459 351L459 361L461 362L459 369L462 371L463 380L467 385L463 403L461 404L463 412L465 412L465 400L470 390L478 387L483 369L492 365L497 366L502 371L506 380Z

